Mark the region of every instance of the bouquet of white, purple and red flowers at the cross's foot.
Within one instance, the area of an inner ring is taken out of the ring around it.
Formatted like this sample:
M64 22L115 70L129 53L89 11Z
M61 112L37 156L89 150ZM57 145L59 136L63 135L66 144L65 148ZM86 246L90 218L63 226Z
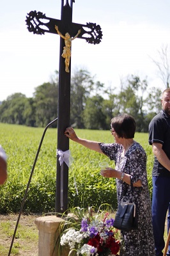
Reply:
M113 222L109 212L93 216L90 210L82 216L80 225L77 222L79 230L76 225L65 230L60 244L69 246L68 255L75 252L77 256L116 256L120 251L120 241L116 239L118 230L112 227Z

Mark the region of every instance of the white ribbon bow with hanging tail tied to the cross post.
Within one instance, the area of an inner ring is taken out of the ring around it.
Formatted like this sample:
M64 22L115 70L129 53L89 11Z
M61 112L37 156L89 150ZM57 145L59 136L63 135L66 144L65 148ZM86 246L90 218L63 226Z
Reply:
M70 150L66 150L63 152L61 149L57 150L57 155L59 156L59 164L61 166L61 180L60 180L60 186L61 186L61 193L60 193L60 205L61 210L63 210L63 162L66 163L66 165L69 167L73 162L73 157L70 154Z

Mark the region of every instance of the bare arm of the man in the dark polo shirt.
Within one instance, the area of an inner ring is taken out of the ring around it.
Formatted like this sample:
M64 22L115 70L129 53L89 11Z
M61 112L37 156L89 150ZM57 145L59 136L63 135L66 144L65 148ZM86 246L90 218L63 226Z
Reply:
M155 157L157 157L158 162L170 172L170 160L162 149L162 144L152 143L152 151Z

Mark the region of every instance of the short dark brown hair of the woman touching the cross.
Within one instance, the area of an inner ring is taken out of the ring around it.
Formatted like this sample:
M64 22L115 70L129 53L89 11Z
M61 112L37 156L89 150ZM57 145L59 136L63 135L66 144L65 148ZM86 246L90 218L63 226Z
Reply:
M111 127L121 138L134 138L136 123L133 116L130 116L128 114L115 116L111 120Z

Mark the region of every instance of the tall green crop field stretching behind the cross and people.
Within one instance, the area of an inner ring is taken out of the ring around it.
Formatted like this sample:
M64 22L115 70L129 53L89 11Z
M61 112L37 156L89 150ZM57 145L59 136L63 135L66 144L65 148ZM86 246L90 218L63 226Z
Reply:
M19 212L33 168L36 152L42 138L43 129L22 125L0 124L1 145L8 155L8 180L0 187L0 213ZM77 129L77 136L89 140L111 143L110 131ZM148 134L137 133L139 141L148 156L148 182L150 193L153 154L148 145ZM24 204L24 212L54 212L56 201L56 147L57 130L49 128L36 162L29 190ZM69 169L68 207L88 207L110 204L117 207L114 179L104 179L100 175L99 163L106 158L88 148L70 141L70 152L74 159ZM109 161L109 160L108 160ZM109 161L114 167L114 162Z

